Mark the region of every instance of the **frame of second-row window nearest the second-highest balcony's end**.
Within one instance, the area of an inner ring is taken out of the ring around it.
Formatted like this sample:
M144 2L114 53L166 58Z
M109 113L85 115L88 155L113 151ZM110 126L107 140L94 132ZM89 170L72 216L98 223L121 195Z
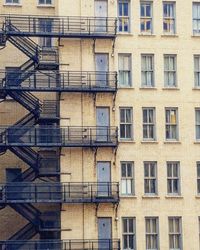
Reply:
M128 58L128 69L120 69L120 58ZM119 76L118 76L118 86L119 88L130 88L132 87L132 55L131 54L118 54L118 67L119 67ZM123 74L123 83L120 83L120 75ZM128 77L128 84L124 84L124 79Z

